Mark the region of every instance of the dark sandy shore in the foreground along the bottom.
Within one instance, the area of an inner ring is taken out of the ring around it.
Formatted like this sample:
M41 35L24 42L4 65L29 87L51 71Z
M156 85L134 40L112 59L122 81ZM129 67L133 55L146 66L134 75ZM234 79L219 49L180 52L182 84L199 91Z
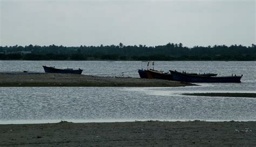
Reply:
M0 146L255 146L256 122L2 124L0 138Z

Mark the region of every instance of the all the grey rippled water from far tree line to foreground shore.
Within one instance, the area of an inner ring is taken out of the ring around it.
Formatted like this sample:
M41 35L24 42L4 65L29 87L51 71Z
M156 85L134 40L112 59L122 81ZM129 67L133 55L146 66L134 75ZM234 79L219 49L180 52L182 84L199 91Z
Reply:
M83 68L83 74L138 77L139 61L0 61L0 72L43 72L42 65ZM256 92L256 62L157 61L155 69L243 74L241 83L174 88L0 87L0 123L135 120L256 120L256 99L183 96L194 92ZM143 66L145 68L145 65ZM128 72L126 72L128 71ZM115 73L115 74L109 74Z

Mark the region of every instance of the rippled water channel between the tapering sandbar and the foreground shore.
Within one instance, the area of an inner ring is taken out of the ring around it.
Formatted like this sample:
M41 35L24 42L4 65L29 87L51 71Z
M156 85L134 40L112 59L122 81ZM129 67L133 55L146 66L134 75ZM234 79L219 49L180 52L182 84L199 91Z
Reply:
M199 91L200 87L196 87ZM1 87L0 118L1 121L83 122L256 120L256 99L179 95L184 89L194 90L185 87Z

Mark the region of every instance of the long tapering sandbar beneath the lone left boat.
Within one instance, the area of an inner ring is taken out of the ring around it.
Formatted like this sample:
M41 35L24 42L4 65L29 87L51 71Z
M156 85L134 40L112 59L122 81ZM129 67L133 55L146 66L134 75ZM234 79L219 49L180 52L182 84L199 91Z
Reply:
M179 87L191 83L140 78L114 78L79 74L0 73L0 87Z

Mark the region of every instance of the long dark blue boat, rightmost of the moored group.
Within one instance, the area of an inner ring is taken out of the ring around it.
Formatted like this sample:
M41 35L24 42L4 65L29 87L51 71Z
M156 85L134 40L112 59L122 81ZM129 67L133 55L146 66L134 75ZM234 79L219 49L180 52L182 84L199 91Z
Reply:
M214 83L240 83L241 76L201 76L201 75L190 75L184 74L177 71L171 71L172 78L174 81L181 82L214 82Z

